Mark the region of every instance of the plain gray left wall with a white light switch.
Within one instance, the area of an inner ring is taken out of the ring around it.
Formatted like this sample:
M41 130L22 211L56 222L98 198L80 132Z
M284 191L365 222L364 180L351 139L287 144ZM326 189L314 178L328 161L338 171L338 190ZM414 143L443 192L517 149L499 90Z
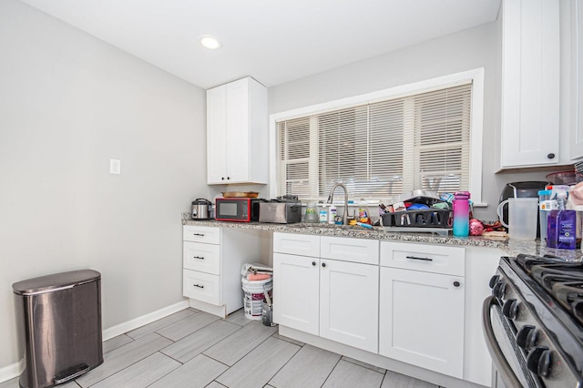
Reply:
M104 329L183 301L180 213L210 193L202 89L15 0L0 53L2 369L15 281L100 271Z

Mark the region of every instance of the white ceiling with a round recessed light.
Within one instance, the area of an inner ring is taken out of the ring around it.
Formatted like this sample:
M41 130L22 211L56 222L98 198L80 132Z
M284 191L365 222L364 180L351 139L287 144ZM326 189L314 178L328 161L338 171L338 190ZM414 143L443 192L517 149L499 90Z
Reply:
M202 88L271 87L496 20L500 0L21 0ZM199 36L220 38L210 51Z

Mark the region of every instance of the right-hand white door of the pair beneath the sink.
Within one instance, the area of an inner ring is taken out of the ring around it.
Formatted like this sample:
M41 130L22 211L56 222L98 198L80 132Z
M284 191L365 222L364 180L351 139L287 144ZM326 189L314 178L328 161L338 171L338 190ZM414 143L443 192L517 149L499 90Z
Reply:
M378 352L379 267L321 260L320 336Z

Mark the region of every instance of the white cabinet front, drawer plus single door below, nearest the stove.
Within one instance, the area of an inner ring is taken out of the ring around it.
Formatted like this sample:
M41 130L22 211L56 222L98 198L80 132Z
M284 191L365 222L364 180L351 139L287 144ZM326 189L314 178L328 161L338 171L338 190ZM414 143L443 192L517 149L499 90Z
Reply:
M464 249L381 242L379 353L464 374Z

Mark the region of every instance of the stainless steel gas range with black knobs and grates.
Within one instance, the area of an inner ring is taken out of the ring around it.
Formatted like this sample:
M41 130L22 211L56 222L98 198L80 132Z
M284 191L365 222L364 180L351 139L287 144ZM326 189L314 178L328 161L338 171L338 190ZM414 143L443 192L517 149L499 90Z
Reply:
M583 387L583 263L502 257L490 288L484 330L506 387Z

